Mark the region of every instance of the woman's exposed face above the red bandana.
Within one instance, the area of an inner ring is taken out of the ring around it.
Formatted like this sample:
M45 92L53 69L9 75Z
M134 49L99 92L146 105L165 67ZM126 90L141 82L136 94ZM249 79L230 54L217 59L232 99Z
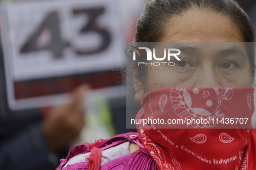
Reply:
M174 17L165 26L162 42L243 42L238 26L227 16L214 12L191 10ZM184 43L183 43L184 44ZM175 66L149 66L146 87L138 90L134 81L135 99L156 88L248 87L251 70L246 48L242 43L187 43L170 62ZM199 50L198 50L199 49ZM206 50L205 50L206 49ZM229 53L224 53L224 52ZM153 61L152 62L158 62Z

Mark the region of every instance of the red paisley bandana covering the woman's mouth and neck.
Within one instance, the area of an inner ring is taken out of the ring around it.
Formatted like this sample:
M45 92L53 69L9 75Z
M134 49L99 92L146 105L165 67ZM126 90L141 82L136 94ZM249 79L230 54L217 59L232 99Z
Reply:
M137 130L159 170L254 170L253 91L253 87L161 88L145 94L136 120L159 118L159 124L142 121ZM173 119L201 121L182 126L192 129L163 129L180 128ZM249 129L212 129L238 127L236 123Z

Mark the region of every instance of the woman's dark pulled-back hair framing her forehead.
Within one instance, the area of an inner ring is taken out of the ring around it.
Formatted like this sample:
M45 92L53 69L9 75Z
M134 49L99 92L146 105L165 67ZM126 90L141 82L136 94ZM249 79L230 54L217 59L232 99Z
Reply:
M166 22L173 16L182 16L189 9L206 9L212 12L220 13L233 20L240 28L245 42L254 42L254 30L250 19L242 8L234 0L150 0L136 25L135 42L158 42L161 41ZM251 77L254 78L254 47L247 47ZM140 60L140 61L138 61ZM133 61L133 66L137 70L136 79L142 86L146 82L146 66L139 66L138 62L145 62L145 57L138 57Z

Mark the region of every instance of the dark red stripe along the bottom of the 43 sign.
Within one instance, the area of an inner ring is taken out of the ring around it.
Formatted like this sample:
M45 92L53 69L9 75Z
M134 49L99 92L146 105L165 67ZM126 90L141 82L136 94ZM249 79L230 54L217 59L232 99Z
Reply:
M58 78L14 82L15 98L25 99L45 95L68 93L79 85L88 83L91 88L118 85L122 72L108 71Z

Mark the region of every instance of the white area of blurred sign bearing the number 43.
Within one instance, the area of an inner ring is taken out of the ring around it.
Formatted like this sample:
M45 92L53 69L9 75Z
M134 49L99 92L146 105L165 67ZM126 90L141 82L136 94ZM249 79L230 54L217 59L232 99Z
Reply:
M115 2L43 0L1 4L11 108L18 108L19 103L13 82L116 68L124 57L125 40Z

